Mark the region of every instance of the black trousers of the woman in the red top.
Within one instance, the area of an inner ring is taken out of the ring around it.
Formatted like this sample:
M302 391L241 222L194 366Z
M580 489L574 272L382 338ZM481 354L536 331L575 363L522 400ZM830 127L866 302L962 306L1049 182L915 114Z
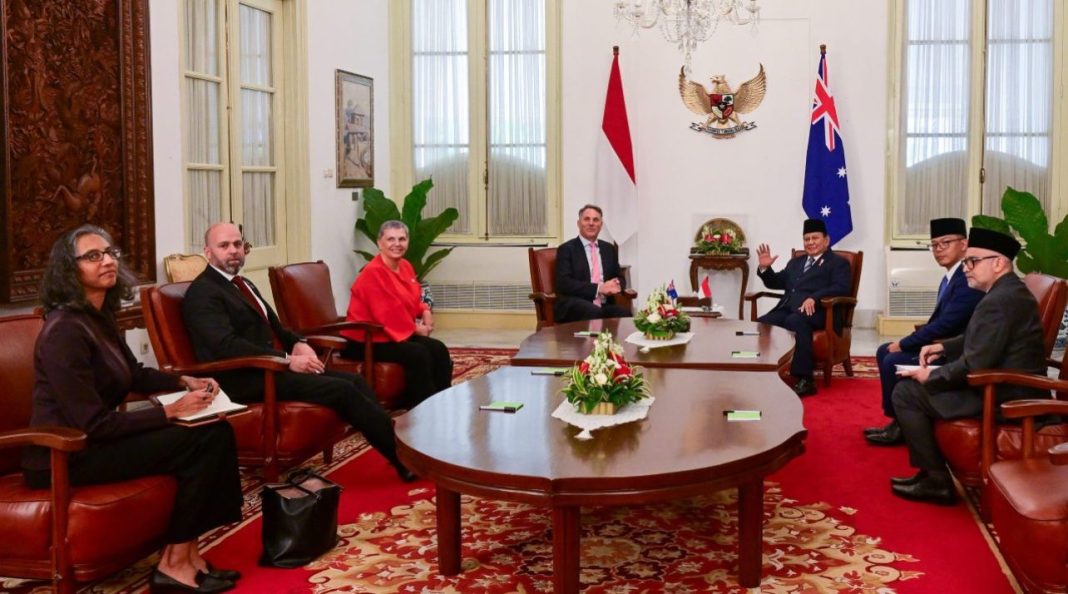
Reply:
M419 403L453 385L453 359L445 343L430 337L412 334L400 342L372 343L376 361L404 368L405 393L402 404L413 408ZM349 341L342 356L363 359L363 343Z

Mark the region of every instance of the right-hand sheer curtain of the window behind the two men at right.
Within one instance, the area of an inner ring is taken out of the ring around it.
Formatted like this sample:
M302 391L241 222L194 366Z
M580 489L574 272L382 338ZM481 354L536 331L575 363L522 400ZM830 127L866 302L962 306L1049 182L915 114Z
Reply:
M989 0L983 212L1002 216L1006 186L1050 209L1053 0Z

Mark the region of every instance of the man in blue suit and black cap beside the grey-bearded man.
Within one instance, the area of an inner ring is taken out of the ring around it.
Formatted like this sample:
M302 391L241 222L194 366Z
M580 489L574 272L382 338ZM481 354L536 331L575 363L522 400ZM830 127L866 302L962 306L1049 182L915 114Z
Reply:
M918 330L899 341L883 344L875 354L882 384L882 412L890 418L885 426L864 429L864 438L875 446L905 443L891 400L898 381L897 365L916 365L921 348L963 333L972 311L983 298L983 292L968 286L960 265L968 250L968 229L963 219L932 219L930 249L934 261L945 268L933 313Z

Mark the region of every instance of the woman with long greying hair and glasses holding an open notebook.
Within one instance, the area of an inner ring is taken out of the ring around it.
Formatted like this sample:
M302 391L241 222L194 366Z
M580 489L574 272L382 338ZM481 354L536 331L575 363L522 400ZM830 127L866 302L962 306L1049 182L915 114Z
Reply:
M197 538L241 517L234 433L224 422L197 427L172 423L206 408L218 384L138 363L115 324L121 300L131 296L132 280L122 252L100 228L79 226L52 246L41 286L45 325L34 347L30 423L74 427L89 436L88 447L70 456L72 485L173 475L174 511L150 587L153 592L223 592L240 575L208 564L197 550ZM116 410L130 392L180 389L188 392L173 404ZM30 487L48 486L49 467L47 450L23 451Z

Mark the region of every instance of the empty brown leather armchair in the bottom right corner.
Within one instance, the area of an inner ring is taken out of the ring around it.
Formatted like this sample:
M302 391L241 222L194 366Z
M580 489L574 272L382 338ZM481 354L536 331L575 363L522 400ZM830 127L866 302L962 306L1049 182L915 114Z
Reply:
M999 546L1025 592L1068 592L1068 443L1035 448L1035 416L1068 418L1068 402L1015 401L1008 419L1023 419L1020 459L990 466L990 517ZM1041 453L1038 453L1041 452Z

